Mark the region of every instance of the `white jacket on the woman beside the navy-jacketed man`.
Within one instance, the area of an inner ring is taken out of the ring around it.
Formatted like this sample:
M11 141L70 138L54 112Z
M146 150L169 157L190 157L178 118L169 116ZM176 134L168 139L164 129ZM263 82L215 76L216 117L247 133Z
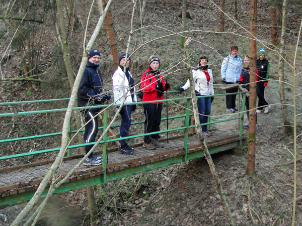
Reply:
M129 72L130 77L132 77L131 73ZM123 79L124 78L124 79ZM124 80L124 85L123 85ZM124 72L120 67L117 68L117 70L114 72L112 76L112 83L113 83L113 95L114 95L114 101L116 101L116 104L121 104L123 100L123 95L126 93L126 100L124 104L137 102L136 95L135 95L135 87L134 89L134 98L132 101L130 88L129 88L129 81L124 75Z

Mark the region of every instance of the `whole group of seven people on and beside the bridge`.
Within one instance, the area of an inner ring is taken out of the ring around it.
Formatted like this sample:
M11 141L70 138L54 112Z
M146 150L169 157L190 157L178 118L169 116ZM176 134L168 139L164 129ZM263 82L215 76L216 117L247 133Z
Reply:
M231 47L231 54L224 58L221 65L221 77L225 84L235 84L239 81L249 90L249 57L245 57L244 66L242 66L242 59L238 56L238 46ZM264 87L267 85L269 76L269 63L265 59L265 51L262 48L259 52L260 58L257 60L257 95L259 98L257 113L263 111L266 114L269 110L269 105L264 98ZM98 69L100 61L100 52L96 49L90 51L89 59L80 83L78 91L78 106L88 107L93 105L101 105L110 100L111 95L104 90L103 77L101 71ZM129 55L121 54L119 57L119 65L112 76L113 96L119 114L121 116L120 138L128 137L129 128L131 125L131 114L136 110L136 91L134 79L129 71L131 59ZM170 89L170 84L165 82L165 79L159 70L161 60L158 56L150 56L149 66L147 70L141 75L140 89L142 91L145 121L144 121L144 140L143 147L154 150L156 148L163 148L164 145L159 141L160 123L163 108L164 92ZM213 132L208 131L206 124L208 116L211 111L211 103L214 95L212 70L208 67L208 58L204 55L198 58L198 66L192 69L192 77L194 81L195 94L197 96L197 106L199 113L199 121L202 124L202 134L204 137L210 137ZM184 86L177 90L182 93L190 87L189 79ZM230 112L238 110L236 107L236 92L238 88L230 88L226 93L233 93L226 95L226 109ZM206 97L204 97L206 96ZM154 102L153 102L154 101ZM249 109L249 100L247 98L246 107ZM119 109L120 108L120 109ZM101 109L84 108L81 112L84 115L85 143L95 142L98 133L98 119L95 117ZM249 114L247 112L249 118ZM248 127L248 124L245 125ZM91 150L93 145L85 146L86 154ZM120 154L133 154L131 148L125 139L120 140L118 147ZM92 152L88 158L85 159L84 165L97 166L102 164L102 157L97 156Z

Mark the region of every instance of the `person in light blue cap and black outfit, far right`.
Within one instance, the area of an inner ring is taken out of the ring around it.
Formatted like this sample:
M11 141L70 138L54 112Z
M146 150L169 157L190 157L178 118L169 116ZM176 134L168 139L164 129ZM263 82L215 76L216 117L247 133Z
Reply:
M268 102L264 98L265 87L267 86L269 78L269 62L265 59L265 49L261 48L259 51L259 59L257 59L257 70L258 70L258 82L257 82L257 96L258 96L258 107L257 114L264 111L267 114L270 108Z

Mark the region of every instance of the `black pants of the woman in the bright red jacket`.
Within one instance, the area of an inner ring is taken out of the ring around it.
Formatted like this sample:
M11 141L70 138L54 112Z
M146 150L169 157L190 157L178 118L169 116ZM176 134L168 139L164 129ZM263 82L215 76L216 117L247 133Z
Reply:
M146 117L144 122L144 132L145 134L152 132L161 131L161 119L162 119L162 109L163 103L144 103L143 104L143 112ZM147 144L152 142L152 140L158 140L161 136L159 134L146 135L144 136L143 141Z

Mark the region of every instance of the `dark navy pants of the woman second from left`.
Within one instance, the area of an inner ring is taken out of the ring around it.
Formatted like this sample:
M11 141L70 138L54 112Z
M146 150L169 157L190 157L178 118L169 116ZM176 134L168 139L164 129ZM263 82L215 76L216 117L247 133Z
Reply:
M129 128L131 125L131 113L132 105L123 105L120 110L120 115L122 118L121 127L120 127L120 137L128 137ZM125 147L126 141L120 140L121 148Z

